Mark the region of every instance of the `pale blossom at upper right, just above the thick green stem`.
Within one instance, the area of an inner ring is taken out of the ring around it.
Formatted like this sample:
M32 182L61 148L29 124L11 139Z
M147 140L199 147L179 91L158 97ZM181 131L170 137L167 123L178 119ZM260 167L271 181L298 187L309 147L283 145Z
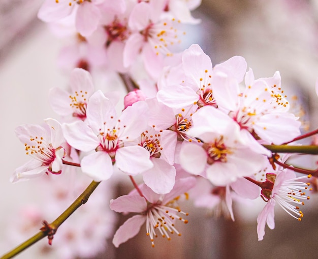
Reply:
M213 88L218 108L229 113L240 126L242 137L250 141L253 138L248 133L275 145L281 145L300 135L301 123L297 121L298 118L285 112L287 101L276 90L272 90L266 82L269 80L252 81L251 73L249 71L245 76L245 81L251 84L247 84L242 93L236 80L226 76L216 78L218 84L223 85L222 88ZM251 145L261 153L264 152L264 149L257 147L255 141Z

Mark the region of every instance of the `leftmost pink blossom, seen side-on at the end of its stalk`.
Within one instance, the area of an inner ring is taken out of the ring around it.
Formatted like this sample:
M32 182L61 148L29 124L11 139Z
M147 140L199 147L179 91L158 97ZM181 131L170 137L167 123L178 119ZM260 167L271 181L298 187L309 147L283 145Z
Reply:
M16 128L16 135L24 143L26 155L33 159L14 171L10 178L12 183L44 173L61 173L62 158L66 156L65 148L62 147L65 139L61 125L50 118L45 122L50 127L50 136L46 129L36 124L25 124Z

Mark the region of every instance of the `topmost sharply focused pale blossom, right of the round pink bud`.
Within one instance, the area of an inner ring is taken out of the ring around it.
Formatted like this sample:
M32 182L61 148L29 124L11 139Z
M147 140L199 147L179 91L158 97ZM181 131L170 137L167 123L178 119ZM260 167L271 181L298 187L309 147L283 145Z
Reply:
M201 47L197 44L191 45L182 53L181 66L176 68L179 71L173 70L168 78L161 80L166 84L161 84L157 98L160 102L174 108L189 105L217 107L217 99L212 94L212 87L224 88L223 84L216 79L217 76L220 74L240 82L243 80L246 66L243 57L234 56L212 68L210 57ZM229 103L232 104L231 100Z

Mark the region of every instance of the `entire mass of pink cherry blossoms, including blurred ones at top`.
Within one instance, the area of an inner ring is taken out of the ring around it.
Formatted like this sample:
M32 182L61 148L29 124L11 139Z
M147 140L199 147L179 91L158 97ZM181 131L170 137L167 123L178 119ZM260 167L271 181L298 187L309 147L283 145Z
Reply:
M304 179L311 176L297 177L285 164L287 157L266 148L300 135L279 72L256 79L242 56L213 67L197 44L172 53L179 41L177 24L198 23L190 10L199 4L46 0L39 18L60 35L76 35L61 54L73 68L70 87L50 90L59 121L16 129L32 160L18 167L11 181L64 175L72 165L96 182L123 172L135 189L111 199L110 208L137 214L118 228L116 247L144 223L152 246L158 234L168 240L180 235L175 219L188 222L177 203L184 193L196 206L233 220L233 200L262 197L259 240L266 223L274 228L275 204L301 220L300 206L310 190ZM134 90L118 102L113 93L98 89L92 75L99 66L120 74ZM142 80L136 80L137 70L144 73Z

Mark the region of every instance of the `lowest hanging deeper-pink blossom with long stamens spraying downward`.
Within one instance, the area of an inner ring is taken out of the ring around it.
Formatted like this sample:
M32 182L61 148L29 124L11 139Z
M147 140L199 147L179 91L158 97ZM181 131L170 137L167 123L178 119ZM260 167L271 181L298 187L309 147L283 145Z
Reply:
M113 244L118 247L120 244L133 238L140 231L140 227L146 222L146 235L150 237L152 247L154 247L154 237L156 231L170 240L170 234L181 234L174 226L174 219L179 219L184 223L180 214L187 215L177 207L176 200L179 195L185 193L195 185L195 178L188 177L176 181L172 191L165 195L154 193L146 185L142 185L140 190L143 197L136 194L123 195L110 201L110 208L116 212L139 213L124 222L115 233ZM177 208L176 208L177 207Z

